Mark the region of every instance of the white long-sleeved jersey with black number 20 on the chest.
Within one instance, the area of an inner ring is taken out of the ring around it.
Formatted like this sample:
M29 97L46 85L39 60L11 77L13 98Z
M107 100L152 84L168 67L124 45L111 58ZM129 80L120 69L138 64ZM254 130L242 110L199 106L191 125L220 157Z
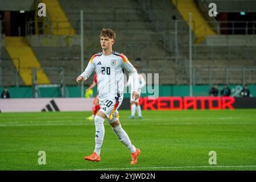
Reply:
M92 74L94 70L97 72L98 97L100 101L108 98L123 99L123 68L132 73L134 77L134 90L138 91L138 79L135 79L137 74L136 69L121 53L113 51L111 55L105 56L102 52L97 53L90 59L85 71L80 75L86 79Z

